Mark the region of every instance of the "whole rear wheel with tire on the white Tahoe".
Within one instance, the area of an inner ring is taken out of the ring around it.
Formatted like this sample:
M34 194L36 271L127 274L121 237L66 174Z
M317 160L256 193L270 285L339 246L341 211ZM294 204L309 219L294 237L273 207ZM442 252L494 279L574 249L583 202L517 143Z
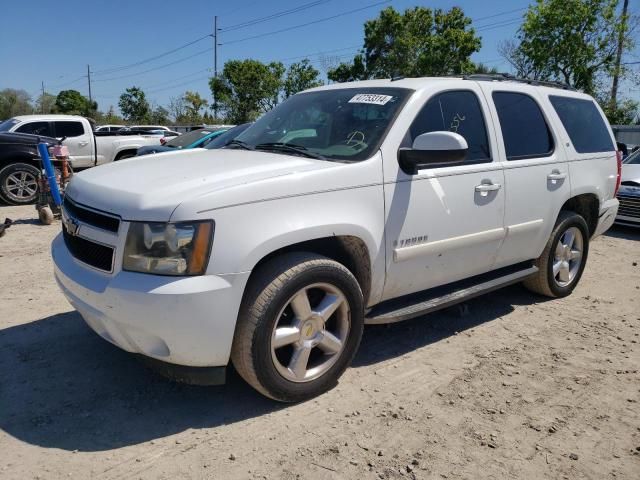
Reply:
M570 234L574 236L573 242L570 242ZM580 254L579 258L576 252ZM577 213L562 211L544 251L535 261L535 266L539 269L538 273L525 280L524 285L529 290L547 297L566 297L578 285L587 264L588 255L587 223ZM554 266L557 273L554 273Z

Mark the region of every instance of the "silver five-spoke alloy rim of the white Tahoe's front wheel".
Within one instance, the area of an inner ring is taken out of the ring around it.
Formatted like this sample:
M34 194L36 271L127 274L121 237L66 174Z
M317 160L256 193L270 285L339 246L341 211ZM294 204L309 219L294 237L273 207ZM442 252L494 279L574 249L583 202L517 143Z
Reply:
M271 335L271 358L292 382L327 372L344 350L351 317L344 294L328 283L296 292L280 311Z

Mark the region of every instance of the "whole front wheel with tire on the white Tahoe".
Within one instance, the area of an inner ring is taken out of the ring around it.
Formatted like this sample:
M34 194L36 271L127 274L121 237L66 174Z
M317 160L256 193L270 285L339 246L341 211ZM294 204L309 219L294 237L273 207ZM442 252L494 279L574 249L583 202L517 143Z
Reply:
M320 303L330 306L324 315ZM289 253L250 280L231 359L263 395L300 402L333 388L353 360L363 326L362 291L349 270L320 255Z

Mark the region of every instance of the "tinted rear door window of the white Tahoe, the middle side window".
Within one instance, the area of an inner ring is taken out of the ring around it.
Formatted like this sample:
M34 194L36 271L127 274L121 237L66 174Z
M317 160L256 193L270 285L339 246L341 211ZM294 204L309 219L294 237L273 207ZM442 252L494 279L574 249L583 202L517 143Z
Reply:
M507 160L548 157L553 137L536 101L529 95L493 92Z

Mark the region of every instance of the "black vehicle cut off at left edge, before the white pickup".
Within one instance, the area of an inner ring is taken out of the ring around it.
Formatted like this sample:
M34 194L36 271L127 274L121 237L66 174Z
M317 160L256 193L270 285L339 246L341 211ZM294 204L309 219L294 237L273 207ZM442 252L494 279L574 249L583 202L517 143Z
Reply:
M0 199L6 203L20 202L38 193L40 155L38 143L57 144L51 137L24 133L0 133Z

